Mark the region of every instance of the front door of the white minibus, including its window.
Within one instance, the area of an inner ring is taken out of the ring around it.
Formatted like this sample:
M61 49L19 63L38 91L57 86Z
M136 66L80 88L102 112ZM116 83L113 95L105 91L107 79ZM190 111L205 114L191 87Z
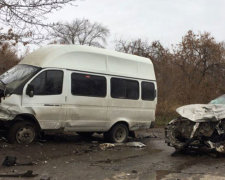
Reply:
M58 129L65 121L66 90L63 78L64 70L47 69L38 73L24 87L22 106L31 109L42 129ZM29 94L29 88L33 94Z

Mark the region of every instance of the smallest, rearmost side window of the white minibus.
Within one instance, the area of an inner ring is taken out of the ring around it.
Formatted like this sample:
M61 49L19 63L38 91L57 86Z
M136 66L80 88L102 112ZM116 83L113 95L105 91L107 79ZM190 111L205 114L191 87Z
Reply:
M153 101L156 96L154 83L143 81L141 83L141 94L143 100Z

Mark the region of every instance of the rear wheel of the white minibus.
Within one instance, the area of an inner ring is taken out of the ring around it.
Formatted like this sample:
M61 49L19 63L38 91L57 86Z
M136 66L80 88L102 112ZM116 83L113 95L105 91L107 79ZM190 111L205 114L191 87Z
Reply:
M128 127L119 123L113 126L109 132L105 133L105 137L113 143L123 143L127 141L129 135Z

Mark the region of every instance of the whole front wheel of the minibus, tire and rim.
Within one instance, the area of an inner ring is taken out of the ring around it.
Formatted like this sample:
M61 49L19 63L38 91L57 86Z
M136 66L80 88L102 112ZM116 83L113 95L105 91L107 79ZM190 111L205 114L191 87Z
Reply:
M20 121L14 123L8 132L9 143L31 144L36 140L37 130L33 123Z

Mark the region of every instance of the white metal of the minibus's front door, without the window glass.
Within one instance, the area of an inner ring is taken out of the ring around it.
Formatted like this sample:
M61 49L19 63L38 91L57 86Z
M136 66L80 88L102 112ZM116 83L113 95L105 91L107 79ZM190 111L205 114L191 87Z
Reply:
M49 69L56 70L56 69ZM36 74L23 89L22 107L33 109L36 119L43 129L59 129L61 123L66 120L65 94L67 92L67 82L63 81L62 94L60 95L35 95L29 97L26 94L27 85L43 71ZM64 74L65 74L64 70Z

